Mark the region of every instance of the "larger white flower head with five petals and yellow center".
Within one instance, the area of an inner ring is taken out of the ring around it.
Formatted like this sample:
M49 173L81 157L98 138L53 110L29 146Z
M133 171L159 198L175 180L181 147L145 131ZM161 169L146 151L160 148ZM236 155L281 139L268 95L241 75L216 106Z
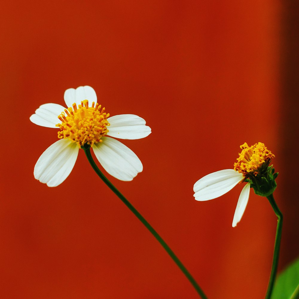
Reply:
M61 184L71 173L79 148L89 144L103 168L115 178L131 181L143 169L135 153L115 140L140 139L151 133L145 120L137 115L123 114L109 117L97 103L97 95L90 86L70 88L64 93L67 106L48 103L40 106L30 120L49 128L59 128L60 140L39 157L34 177L49 187ZM110 136L110 137L106 137Z

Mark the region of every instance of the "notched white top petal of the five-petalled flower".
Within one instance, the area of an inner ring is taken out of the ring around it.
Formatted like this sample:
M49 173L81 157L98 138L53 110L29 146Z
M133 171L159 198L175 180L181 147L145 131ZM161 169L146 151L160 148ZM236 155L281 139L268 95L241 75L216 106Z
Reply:
M76 89L67 89L64 92L64 100L67 107L72 107L74 103L78 106L83 100L88 100L91 106L92 102L97 103L97 94L90 86L79 86Z

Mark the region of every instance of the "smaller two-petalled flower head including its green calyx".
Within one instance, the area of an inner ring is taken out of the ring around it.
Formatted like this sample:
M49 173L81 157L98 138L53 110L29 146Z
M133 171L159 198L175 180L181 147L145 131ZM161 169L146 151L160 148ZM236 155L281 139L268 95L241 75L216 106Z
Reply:
M235 210L233 227L243 216L248 203L250 187L253 187L258 195L268 196L276 188L275 178L277 177L277 174L274 174L274 168L269 166L274 155L265 147L265 144L259 142L249 147L245 142L240 148L242 152L239 153L234 169L210 173L199 179L193 187L195 199L205 201L219 197L238 183L246 181Z

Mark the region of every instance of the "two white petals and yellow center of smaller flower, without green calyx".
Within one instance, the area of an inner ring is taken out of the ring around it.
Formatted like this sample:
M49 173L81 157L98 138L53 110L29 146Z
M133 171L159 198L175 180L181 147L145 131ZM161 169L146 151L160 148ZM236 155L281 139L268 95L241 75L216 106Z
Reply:
M197 201L205 201L217 198L234 188L245 179L254 180L263 165L268 166L274 155L261 142L248 146L244 143L240 146L242 152L234 164L234 169L224 169L204 176L193 186L194 197ZM234 214L233 224L235 227L241 220L248 203L250 183L243 187Z

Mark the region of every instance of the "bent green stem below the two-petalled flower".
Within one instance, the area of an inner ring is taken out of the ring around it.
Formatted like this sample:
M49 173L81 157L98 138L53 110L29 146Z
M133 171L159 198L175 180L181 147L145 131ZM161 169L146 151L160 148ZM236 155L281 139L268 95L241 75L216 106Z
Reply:
M277 228L276 228L276 236L275 236L275 243L274 243L272 269L271 269L270 280L269 280L268 289L267 289L267 293L266 293L266 297L265 297L265 299L270 299L272 290L273 290L273 286L274 286L276 273L277 273L283 216L282 216L282 213L280 212L279 208L277 207L276 202L274 201L273 194L267 196L267 199L269 200L269 202L272 206L272 209L274 210L274 213L277 216Z

